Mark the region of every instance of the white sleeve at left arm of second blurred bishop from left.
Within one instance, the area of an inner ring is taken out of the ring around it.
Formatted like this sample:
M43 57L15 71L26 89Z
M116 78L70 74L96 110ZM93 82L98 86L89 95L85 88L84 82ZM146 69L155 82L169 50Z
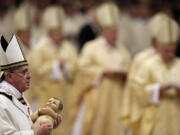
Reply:
M53 64L53 69L50 74L50 79L51 80L61 80L61 78L62 78L62 71L59 68L59 62L56 60L56 61L54 61L54 64Z

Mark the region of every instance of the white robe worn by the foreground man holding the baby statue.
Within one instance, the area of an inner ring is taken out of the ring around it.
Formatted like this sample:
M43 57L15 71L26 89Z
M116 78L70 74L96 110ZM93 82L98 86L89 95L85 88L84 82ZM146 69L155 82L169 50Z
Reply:
M0 92L12 97L12 100L0 94L0 135L34 135L31 109L29 105L23 105L17 98L18 90L9 83L0 83ZM23 95L22 95L23 96ZM23 96L24 97L24 96ZM27 100L25 99L27 102Z

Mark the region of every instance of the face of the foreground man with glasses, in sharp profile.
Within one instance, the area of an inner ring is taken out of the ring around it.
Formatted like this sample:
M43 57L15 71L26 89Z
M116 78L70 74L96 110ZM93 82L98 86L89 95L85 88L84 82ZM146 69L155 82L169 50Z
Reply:
M28 66L22 66L12 72L8 72L7 76L11 84L21 93L29 89L32 75Z

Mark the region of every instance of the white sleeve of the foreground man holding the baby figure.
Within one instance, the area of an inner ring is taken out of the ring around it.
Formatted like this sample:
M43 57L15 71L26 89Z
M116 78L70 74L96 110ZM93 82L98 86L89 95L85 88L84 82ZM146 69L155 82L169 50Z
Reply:
M14 123L2 107L0 107L0 123L0 135L34 135L33 130L16 129Z

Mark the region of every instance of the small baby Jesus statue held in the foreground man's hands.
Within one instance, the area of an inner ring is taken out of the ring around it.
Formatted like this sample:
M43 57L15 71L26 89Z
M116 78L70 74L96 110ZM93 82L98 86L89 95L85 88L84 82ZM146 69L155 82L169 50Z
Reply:
M53 97L48 100L45 107L39 108L34 114L32 114L31 119L34 125L37 123L49 123L54 127L54 120L57 119L57 114L59 114L62 109L62 101L57 97Z

